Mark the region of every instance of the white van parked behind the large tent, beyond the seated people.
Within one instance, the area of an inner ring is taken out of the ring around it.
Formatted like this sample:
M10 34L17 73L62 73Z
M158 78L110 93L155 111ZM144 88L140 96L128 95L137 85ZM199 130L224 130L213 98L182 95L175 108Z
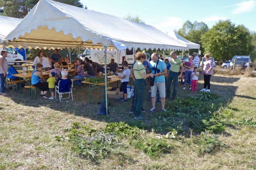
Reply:
M132 65L134 63L134 56L134 48L131 48L131 50L128 48L125 50L107 50L107 64L111 62L111 59L114 59L119 66L122 66L123 61L127 61L129 65ZM80 59L84 61L85 57L88 57L93 62L104 64L104 50L86 48L84 53L81 54Z

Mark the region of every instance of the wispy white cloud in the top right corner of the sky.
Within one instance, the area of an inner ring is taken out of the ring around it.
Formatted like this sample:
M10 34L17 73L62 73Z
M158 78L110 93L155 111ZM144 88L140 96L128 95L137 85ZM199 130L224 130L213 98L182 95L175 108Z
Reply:
M255 6L256 6L255 0L248 0L248 1L243 1L241 3L236 3L235 5L230 7L235 7L232 11L233 14L241 14L241 13L252 11Z

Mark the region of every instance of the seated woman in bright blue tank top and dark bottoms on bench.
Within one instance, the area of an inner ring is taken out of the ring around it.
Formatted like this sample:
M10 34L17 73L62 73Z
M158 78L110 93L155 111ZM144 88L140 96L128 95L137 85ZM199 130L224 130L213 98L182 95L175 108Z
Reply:
M41 96L43 96L45 99L48 99L48 97L45 96L49 90L48 84L41 81L41 79L44 78L42 74L43 65L38 63L36 64L35 68L36 70L32 71L31 84L41 90Z

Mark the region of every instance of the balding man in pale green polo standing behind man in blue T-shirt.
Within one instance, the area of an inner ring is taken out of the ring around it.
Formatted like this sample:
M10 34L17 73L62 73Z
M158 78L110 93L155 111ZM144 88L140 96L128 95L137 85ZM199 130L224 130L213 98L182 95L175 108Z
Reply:
M183 70L183 62L182 59L177 57L177 54L175 51L172 51L170 53L171 56L171 68L168 74L168 79L167 79L167 90L166 90L166 97L170 97L171 94L171 82L173 81L173 93L172 93L172 99L177 98L177 84L178 84L178 77L181 77L182 73L178 75L178 72Z

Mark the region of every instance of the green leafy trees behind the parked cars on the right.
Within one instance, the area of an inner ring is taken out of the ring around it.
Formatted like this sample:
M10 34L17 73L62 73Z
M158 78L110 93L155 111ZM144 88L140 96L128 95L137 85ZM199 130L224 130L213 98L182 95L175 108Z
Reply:
M230 60L235 55L256 59L256 32L230 20L219 20L212 28L206 23L187 20L177 31L189 41L200 44L201 54L209 53L215 60ZM194 52L194 50L191 50Z

